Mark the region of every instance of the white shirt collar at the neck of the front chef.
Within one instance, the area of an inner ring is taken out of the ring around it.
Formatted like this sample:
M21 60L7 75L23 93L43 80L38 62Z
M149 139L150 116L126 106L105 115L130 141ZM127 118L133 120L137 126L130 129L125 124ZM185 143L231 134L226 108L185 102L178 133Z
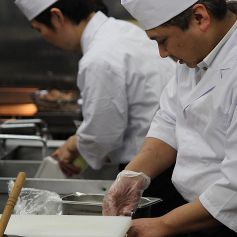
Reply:
M222 40L216 45L216 47L201 61L197 64L199 69L207 70L211 63L214 61L216 55L221 50L222 46L227 42L227 40L231 37L233 32L237 29L237 21L230 28L230 30L226 33L226 35L222 38Z

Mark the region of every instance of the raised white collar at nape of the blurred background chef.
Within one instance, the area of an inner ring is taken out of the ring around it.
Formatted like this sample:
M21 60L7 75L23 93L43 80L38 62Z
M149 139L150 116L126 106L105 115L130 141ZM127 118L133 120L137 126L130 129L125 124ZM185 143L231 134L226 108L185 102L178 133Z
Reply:
M94 38L99 28L107 20L108 17L101 11L96 12L95 15L90 19L81 37L82 54L85 54L87 52L91 40Z

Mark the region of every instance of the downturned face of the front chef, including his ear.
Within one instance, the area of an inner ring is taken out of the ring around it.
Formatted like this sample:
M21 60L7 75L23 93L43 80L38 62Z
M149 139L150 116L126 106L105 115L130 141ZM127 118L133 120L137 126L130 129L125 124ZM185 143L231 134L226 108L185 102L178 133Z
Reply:
M159 26L147 30L147 35L156 40L161 57L170 56L188 67L195 67L208 54L207 29L209 22L202 12L196 12L189 27L182 30L178 26Z

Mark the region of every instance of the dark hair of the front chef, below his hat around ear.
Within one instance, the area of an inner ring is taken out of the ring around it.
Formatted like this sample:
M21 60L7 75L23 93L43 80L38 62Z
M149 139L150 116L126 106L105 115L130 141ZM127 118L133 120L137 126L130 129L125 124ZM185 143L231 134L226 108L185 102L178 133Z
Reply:
M195 4L203 4L207 10L218 20L222 20L227 13L227 4L225 0L199 0ZM189 24L192 18L193 10L191 7L181 12L179 15L175 16L171 20L162 24L162 26L178 26L183 31L189 28Z

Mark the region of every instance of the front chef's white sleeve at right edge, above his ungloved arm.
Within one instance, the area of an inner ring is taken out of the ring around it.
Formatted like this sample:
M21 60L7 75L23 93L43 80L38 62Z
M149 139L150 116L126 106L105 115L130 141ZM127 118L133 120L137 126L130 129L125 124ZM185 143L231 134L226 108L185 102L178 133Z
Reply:
M220 167L221 178L209 186L199 199L212 216L237 232L237 96L232 104L225 157Z

